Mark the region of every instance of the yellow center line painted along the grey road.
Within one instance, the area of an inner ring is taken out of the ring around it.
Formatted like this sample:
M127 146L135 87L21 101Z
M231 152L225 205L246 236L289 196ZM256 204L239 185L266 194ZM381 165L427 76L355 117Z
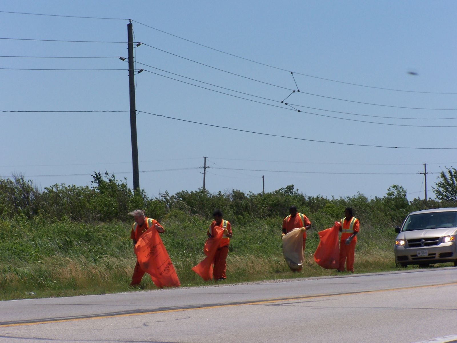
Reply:
M457 282L451 282L451 283L447 283L447 284L411 286L411 287L402 287L402 288L366 290L366 291L347 292L347 293L338 293L338 294L303 295L303 296L298 296L298 297L294 297L294 298L258 300L258 301L248 301L248 302L237 303L237 304L211 305L211 306L190 307L190 308L173 309L173 310L159 310L159 311L123 313L123 314L121 313L121 314L113 314L113 315L106 315L106 316L91 316L91 317L82 317L82 318L56 319L56 320L48 320L48 321L42 321L42 322L12 323L12 324L2 324L2 325L0 325L0 327L16 327L16 326L23 326L23 325L77 322L77 321L90 320L90 319L105 319L105 318L120 318L120 317L128 317L128 316L143 316L143 315L150 315L150 314L156 314L156 313L171 313L171 312L182 312L182 311L193 311L193 310L207 310L207 309L215 309L215 308L221 308L221 307L233 307L233 306L241 306L241 305L262 305L262 304L271 304L271 303L277 303L277 302L282 302L282 301L308 300L308 299L317 299L317 298L334 297L334 296L342 296L342 295L359 295L359 294L368 294L368 293L389 292L389 291L393 291L393 290L431 288L431 287L452 286L452 285L457 285Z

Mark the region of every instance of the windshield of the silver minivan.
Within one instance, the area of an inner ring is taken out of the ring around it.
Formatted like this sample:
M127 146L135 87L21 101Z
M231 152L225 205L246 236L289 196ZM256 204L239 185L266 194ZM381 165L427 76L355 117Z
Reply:
M457 227L457 211L411 214L402 231Z

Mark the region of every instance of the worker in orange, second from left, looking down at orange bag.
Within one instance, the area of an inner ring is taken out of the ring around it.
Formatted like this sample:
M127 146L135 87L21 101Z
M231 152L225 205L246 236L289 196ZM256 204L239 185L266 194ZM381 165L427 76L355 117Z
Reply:
M213 212L213 218L213 222L208 227L207 236L213 236L214 226L219 226L224 229L222 240L219 243L216 255L214 255L213 278L214 281L223 281L227 279L227 275L225 274L227 270L226 259L228 255L228 245L230 244L230 238L232 238L232 227L228 220L222 218L222 211L220 209L216 209Z

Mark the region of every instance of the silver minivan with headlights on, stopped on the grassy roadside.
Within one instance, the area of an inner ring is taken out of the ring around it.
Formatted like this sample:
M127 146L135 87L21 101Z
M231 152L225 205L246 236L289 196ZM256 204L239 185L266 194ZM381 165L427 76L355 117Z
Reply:
M457 207L412 212L395 232L397 265L453 262L457 266Z

